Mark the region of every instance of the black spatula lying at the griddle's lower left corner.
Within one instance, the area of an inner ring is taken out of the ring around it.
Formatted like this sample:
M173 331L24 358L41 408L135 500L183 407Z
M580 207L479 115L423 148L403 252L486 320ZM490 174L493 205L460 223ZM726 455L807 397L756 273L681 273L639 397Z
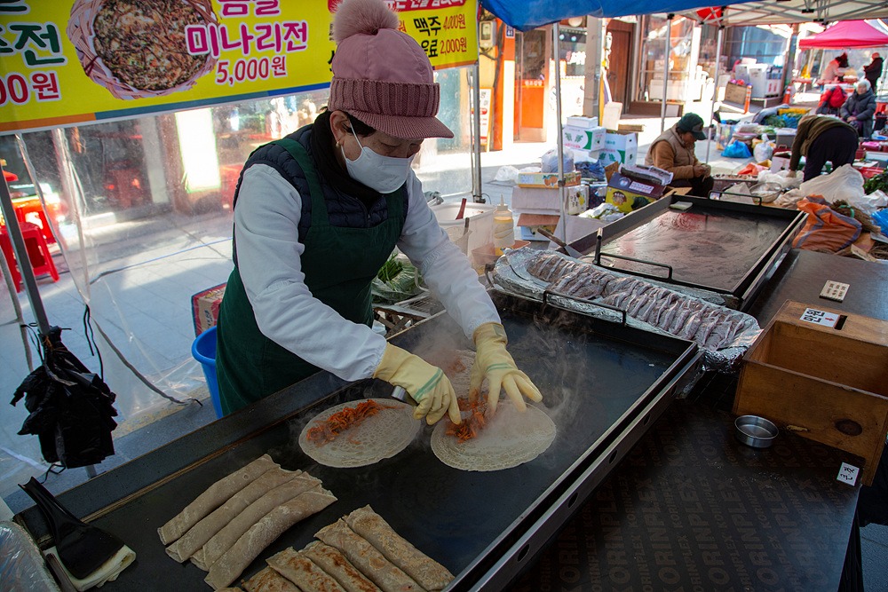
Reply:
M28 483L19 486L43 511L52 529L61 562L78 580L83 580L98 570L117 551L123 549L123 541L114 534L79 520L35 478L32 477Z

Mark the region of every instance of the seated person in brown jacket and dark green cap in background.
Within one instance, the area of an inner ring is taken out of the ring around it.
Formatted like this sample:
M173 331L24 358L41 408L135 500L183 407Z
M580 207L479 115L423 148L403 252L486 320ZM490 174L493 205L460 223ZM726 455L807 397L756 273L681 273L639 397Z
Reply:
M702 117L686 113L647 149L645 164L672 173L673 187L691 187L691 195L709 197L714 183L710 167L694 154L694 142L706 139Z

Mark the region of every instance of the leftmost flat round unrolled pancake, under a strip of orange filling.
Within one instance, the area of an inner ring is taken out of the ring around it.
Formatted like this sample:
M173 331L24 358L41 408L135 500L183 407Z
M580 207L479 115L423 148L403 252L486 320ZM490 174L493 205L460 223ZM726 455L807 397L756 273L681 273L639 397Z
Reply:
M308 430L319 422L326 422L330 415L345 407L355 407L364 400L375 401L383 408L361 424L340 433L331 442L318 443L308 439ZM412 406L395 399L364 400L349 401L315 415L299 435L302 451L328 467L364 467L400 453L416 438L422 423L413 418Z

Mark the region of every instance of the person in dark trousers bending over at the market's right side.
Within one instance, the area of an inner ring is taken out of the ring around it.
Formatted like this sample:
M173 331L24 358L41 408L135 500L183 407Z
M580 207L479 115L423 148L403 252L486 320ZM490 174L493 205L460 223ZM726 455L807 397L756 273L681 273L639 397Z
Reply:
M796 176L802 156L805 156L805 181L820 175L827 162L832 163L833 170L851 164L857 145L857 130L848 123L832 115L805 115L798 122L796 139L792 143L789 177Z

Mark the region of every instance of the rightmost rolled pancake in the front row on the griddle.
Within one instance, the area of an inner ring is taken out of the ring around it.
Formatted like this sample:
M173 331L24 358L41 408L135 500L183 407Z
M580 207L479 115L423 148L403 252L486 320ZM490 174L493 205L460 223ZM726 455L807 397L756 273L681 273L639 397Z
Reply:
M426 590L441 590L453 580L446 567L395 533L369 506L354 510L345 517L345 523Z

